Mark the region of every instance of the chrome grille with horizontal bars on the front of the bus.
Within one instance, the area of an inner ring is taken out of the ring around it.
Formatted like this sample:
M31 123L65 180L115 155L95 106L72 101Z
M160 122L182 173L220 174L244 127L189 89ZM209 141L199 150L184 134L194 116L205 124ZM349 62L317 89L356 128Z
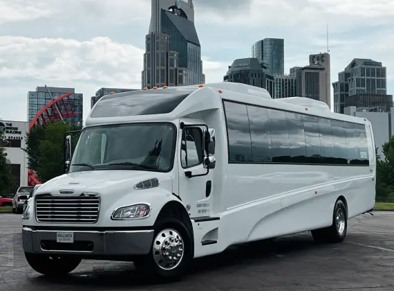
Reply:
M35 197L35 215L38 222L95 223L100 211L98 195L40 194Z

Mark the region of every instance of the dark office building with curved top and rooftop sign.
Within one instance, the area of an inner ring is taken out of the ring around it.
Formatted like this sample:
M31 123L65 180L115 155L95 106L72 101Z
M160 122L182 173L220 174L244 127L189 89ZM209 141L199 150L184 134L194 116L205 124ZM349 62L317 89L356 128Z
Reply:
M264 88L274 98L274 76L257 58L234 60L223 80Z

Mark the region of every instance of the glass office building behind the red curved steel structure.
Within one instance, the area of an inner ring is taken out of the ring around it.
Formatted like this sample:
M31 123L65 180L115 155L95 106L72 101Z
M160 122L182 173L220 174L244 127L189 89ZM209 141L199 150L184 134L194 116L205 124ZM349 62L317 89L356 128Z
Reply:
M59 88L59 87L48 87L52 98L50 97L46 87L37 87L35 91L28 91L28 122L30 123L33 118L44 108L48 103L63 96L64 94L71 93L70 103L73 107L74 116L68 116L65 120L71 125L82 127L82 119L84 115L84 94L75 93L74 88ZM65 103L64 106L71 111L69 104ZM49 108L48 111L51 109ZM48 112L51 116L57 115L57 112Z

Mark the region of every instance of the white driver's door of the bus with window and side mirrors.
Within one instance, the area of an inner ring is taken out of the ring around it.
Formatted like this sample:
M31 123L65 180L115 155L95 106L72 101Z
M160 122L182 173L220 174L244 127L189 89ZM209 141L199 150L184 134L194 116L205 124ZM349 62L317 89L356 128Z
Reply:
M209 218L212 211L212 169L216 163L212 155L214 130L201 123L180 122L178 141L180 199L190 218Z

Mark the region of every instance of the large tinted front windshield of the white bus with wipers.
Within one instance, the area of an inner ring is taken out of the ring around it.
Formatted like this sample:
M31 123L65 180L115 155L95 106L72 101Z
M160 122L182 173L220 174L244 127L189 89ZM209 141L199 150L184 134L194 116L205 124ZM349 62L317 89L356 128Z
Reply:
M69 173L86 170L153 170L173 167L176 127L138 123L86 127L79 136Z

